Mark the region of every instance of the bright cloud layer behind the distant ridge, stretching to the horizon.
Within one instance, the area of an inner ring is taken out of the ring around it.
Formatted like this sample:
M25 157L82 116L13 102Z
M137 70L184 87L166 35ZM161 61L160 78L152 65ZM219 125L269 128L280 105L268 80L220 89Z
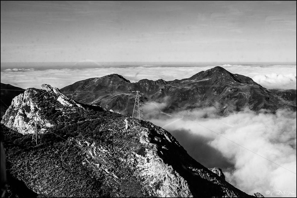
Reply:
M255 82L267 89L296 89L296 65L220 65L233 74L251 77ZM85 68L85 69L6 69L1 71L1 82L22 88L40 88L43 83L62 88L79 80L102 77L108 74L120 74L131 82L141 79L166 81L189 78L192 75L213 68L203 67L151 67L142 65L129 68Z

